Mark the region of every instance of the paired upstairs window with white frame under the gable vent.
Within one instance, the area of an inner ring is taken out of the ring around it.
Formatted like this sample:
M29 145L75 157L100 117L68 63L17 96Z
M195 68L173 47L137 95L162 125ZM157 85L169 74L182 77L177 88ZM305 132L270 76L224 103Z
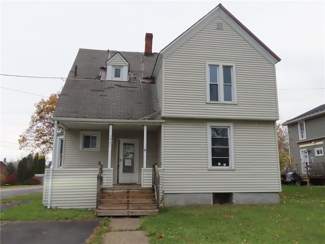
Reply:
M206 83L207 102L237 102L235 64L206 62Z

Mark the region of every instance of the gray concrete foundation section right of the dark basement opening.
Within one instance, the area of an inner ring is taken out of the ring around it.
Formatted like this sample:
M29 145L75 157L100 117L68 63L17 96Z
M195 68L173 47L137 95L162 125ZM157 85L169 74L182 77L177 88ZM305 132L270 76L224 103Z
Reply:
M233 193L234 204L279 204L278 192Z

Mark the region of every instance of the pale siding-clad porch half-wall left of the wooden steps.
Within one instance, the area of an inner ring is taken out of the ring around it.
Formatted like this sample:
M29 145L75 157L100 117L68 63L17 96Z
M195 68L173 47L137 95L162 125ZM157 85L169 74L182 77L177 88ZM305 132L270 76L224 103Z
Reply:
M51 207L95 208L98 168L53 169ZM43 205L48 205L50 170L44 177Z

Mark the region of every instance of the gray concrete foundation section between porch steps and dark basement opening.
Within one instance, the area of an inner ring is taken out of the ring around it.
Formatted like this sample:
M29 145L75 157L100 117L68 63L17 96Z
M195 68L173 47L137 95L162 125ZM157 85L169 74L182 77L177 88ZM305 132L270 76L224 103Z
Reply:
M164 207L185 205L211 205L213 203L211 193L165 193Z

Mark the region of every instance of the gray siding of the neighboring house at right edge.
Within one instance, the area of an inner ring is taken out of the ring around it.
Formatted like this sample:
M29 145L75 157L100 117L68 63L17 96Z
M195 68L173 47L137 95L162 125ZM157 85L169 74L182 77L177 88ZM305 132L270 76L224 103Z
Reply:
M314 157L314 162L325 162L325 156L315 156L315 148L324 148L325 138L325 115L302 119L299 123L305 121L306 139L299 139L298 122L295 124L288 125L289 141L290 141L290 154L292 155L293 161L291 163L300 163L301 154L300 150L308 149L309 157ZM322 138L316 140L317 138ZM317 144L311 145L310 140L316 140ZM321 143L322 142L322 143ZM298 144L299 143L299 144ZM321 143L321 144L318 144ZM312 159L309 159L311 162Z

